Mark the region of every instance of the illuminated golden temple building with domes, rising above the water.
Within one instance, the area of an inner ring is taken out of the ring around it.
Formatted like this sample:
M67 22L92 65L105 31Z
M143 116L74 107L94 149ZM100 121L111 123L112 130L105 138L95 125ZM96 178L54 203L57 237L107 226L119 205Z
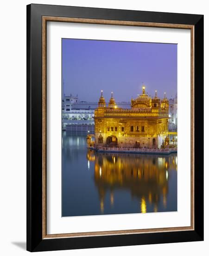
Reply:
M131 99L131 108L118 108L113 93L106 105L101 91L98 108L95 109L95 146L160 148L169 146L169 101L142 94Z

